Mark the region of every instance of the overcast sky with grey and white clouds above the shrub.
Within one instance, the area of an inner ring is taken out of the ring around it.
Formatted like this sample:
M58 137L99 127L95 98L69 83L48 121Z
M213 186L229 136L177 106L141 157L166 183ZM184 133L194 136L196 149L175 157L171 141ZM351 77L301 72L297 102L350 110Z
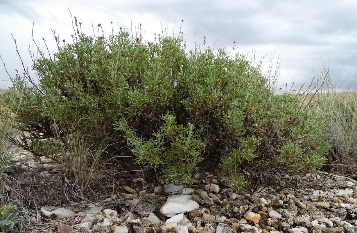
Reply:
M215 48L230 49L236 41L239 53L255 53L257 59L267 55L263 72L269 63L279 64L278 86L310 82L319 75L322 58L336 84L357 89L356 0L0 0L0 55L11 76L22 69L11 33L30 66L33 23L39 47L46 50L44 38L54 50L51 30L67 42L73 34L68 9L82 22L84 33L92 34L92 23L100 23L107 33L110 21L115 32L141 23L147 40L161 33L160 22L172 34L176 21L177 33L183 19L188 48L194 47L196 37L201 42L205 36L207 45ZM2 65L0 80L2 87L11 85Z

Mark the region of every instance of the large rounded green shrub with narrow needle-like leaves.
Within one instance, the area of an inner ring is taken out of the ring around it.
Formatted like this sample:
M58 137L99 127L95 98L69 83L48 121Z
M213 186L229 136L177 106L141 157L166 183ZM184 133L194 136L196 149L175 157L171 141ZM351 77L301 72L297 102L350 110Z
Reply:
M243 55L186 53L181 38L142 42L124 30L74 38L57 41L53 59L35 61L38 84L17 75L2 95L17 100L15 126L29 133L18 142L37 155L55 156L58 140L80 126L110 142L107 152L130 152L167 182L191 183L201 161L237 186L246 184L239 169L300 172L325 161L328 126L296 96L274 95Z

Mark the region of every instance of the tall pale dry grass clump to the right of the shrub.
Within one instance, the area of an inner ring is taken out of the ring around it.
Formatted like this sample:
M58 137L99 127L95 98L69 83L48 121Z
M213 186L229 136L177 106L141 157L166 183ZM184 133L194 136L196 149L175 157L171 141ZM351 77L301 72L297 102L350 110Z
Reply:
M331 128L327 137L332 141L332 150L326 156L323 170L333 173L356 174L357 162L357 94L350 90L339 90L333 85L333 77L323 60L320 64L321 86L313 96L305 95L305 104L315 104L317 111L328 112L332 117L327 122ZM337 84L338 86L338 84ZM309 87L310 88L310 87ZM317 115L318 116L318 115ZM317 121L321 118L316 118Z

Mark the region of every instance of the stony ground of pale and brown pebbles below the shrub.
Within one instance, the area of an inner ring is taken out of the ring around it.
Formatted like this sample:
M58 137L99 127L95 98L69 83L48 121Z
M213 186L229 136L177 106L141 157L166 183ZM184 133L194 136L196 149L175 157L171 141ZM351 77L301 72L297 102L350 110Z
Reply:
M47 179L61 170L50 159L42 158L41 164L27 151L19 151L15 159L27 169L46 168L39 174ZM113 191L99 202L38 203L26 212L31 215L26 229L15 232L357 232L357 182L347 176L320 172L295 179L286 175L279 189L267 186L238 193L211 172L194 177L197 184L191 188L165 185L160 179L149 183L138 176L119 180L115 187L104 184ZM47 190L46 195L56 194Z

